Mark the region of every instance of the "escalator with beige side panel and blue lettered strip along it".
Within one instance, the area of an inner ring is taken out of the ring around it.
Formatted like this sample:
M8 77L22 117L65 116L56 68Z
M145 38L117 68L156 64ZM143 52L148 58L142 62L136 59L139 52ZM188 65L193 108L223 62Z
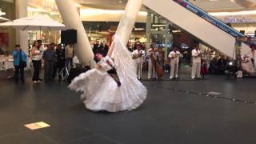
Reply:
M143 5L231 58L236 38L243 36L186 0L143 0ZM242 42L241 53L248 51L250 46Z

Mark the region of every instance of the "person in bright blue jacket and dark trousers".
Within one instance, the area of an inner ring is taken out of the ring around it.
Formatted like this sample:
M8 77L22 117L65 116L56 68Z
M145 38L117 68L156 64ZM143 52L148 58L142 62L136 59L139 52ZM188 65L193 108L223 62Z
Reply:
M22 51L20 45L15 46L13 57L14 57L14 67L15 67L15 74L14 74L15 82L18 82L18 79L20 78L22 83L24 83L24 68L26 67L26 53Z

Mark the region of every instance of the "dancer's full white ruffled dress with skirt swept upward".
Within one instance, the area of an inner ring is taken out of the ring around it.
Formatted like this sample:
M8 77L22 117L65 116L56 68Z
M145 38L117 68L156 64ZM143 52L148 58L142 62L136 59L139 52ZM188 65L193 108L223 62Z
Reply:
M114 37L110 49L114 49L112 58L121 82L120 87L107 73L111 67L106 64L106 60L110 60L106 57L99 62L101 69L80 74L69 88L82 91L81 98L89 110L117 112L136 109L146 99L146 87L138 81L131 53L122 45L118 36Z

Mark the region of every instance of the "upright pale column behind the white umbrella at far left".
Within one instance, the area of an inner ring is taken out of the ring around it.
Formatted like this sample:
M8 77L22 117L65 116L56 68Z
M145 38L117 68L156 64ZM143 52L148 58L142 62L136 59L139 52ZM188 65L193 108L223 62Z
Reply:
M26 0L16 0L16 18L27 17L27 1ZM16 44L20 44L22 50L28 53L28 32L22 30L16 30Z

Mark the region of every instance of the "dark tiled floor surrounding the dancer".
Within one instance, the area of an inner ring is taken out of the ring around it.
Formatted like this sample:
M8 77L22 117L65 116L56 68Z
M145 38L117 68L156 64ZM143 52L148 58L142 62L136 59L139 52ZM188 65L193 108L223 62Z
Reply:
M2 74L4 75L4 74ZM189 78L182 74L182 78ZM167 79L167 76L166 78ZM256 102L256 79L142 81L146 102L137 110L115 114L86 110L66 83L15 85L0 78L1 144L251 144L256 142L256 105L211 98L186 91L222 93L223 98ZM175 90L184 90L175 91ZM46 122L42 130L23 125Z

